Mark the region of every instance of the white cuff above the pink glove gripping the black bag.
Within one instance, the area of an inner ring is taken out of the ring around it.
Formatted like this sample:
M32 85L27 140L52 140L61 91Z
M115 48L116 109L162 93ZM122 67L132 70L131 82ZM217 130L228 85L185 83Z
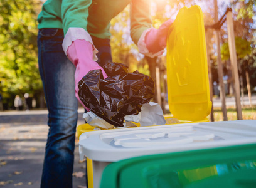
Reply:
M92 38L90 34L85 31L83 28L68 28L68 31L63 39L62 48L64 50L65 55L67 55L68 46L71 46L72 42L80 39L88 41L93 46L93 61L97 61L97 53L99 52L95 46L93 45Z

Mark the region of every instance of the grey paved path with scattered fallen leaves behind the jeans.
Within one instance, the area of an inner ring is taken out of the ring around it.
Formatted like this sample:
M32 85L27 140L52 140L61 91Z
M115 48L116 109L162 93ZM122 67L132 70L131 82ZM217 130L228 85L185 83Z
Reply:
M0 112L0 187L40 187L47 113L47 110ZM78 124L82 124L83 110L78 113ZM85 162L79 160L78 141L73 172L85 172ZM80 186L85 186L85 176L73 176L73 187Z

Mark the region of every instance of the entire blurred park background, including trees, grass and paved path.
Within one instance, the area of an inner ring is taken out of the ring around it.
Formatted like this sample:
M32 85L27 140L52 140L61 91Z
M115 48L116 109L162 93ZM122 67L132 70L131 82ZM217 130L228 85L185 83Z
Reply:
M38 71L36 18L44 2L0 1L0 186L6 188L40 187L48 111ZM211 121L256 120L256 0L152 0L154 27L158 28L170 18L175 19L179 9L194 4L201 7L205 20L213 101L213 113L208 118ZM225 20L227 8L232 8L237 77L230 60L228 20ZM129 65L130 71L138 70L152 76L156 82L154 102L161 105L164 113L170 113L166 54L148 58L139 53L129 34L129 7L111 24L113 61ZM235 78L238 79L236 83ZM240 118L235 84L239 86ZM83 112L80 107L78 125L84 123ZM73 187L85 188L85 161L79 160L78 140L75 144Z

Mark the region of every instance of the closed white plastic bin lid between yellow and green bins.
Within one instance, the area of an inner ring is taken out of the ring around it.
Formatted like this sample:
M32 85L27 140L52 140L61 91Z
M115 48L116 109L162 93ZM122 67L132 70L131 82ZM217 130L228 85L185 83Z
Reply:
M186 123L86 132L80 158L114 162L131 157L256 143L256 120Z

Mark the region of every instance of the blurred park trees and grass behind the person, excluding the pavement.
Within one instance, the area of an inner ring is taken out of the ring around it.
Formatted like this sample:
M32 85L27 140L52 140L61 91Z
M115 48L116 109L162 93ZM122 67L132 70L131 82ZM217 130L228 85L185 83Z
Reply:
M36 18L43 2L44 0L0 1L0 111L46 108L43 86L38 72L36 46L38 32ZM179 9L183 6L190 7L194 4L201 6L206 26L216 23L225 14L227 8L232 8L243 118L256 119L255 103L253 105L253 97L256 95L256 1L152 0L151 16L154 27L158 28L167 19L175 19ZM138 70L151 75L156 83L159 83L156 87L154 102L163 107L164 113L169 113L166 55L148 58L138 52L129 34L129 7L117 15L111 24L113 61L129 65L130 71ZM227 22L223 22L217 30L213 28L206 30L215 120L223 120L223 110L221 111L221 107L215 105L214 99L220 98L221 92L224 92L227 98L235 95ZM221 79L220 70L218 70L216 33L220 39ZM223 80L224 90L220 92L221 80ZM23 102L20 108L14 106L14 100L18 95ZM248 103L244 102L245 98L248 98ZM221 102L223 103L223 100ZM236 120L237 115L233 115L236 111L235 106L230 105L227 108L228 120Z

